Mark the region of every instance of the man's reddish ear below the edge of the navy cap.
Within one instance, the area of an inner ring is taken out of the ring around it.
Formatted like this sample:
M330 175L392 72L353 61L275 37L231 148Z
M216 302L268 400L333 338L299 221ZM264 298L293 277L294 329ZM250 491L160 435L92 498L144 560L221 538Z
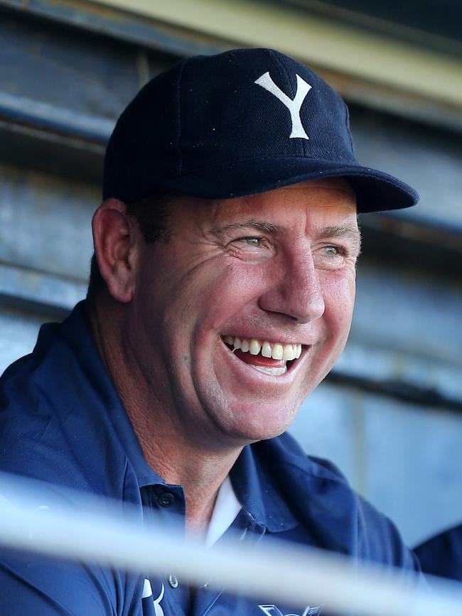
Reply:
M137 237L125 204L117 199L103 201L93 216L92 230L95 255L109 293L119 302L131 301Z

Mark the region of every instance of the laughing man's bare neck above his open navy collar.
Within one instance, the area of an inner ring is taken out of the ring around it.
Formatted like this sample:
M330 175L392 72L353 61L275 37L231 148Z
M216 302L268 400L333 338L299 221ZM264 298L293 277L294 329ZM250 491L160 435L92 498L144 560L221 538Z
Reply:
M111 300L109 300L111 302ZM108 309L109 308L109 309ZM119 392L147 463L169 484L182 485L186 496L186 529L205 531L217 492L242 447L191 442L178 430L156 392L146 387L136 364L128 364L119 342L122 330L117 307L104 299L90 307L92 333L102 361Z

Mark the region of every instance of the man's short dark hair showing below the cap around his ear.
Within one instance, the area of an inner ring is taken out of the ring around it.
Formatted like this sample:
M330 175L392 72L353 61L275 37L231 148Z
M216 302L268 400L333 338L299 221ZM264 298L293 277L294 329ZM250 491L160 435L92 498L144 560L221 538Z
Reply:
M147 244L154 244L158 240L168 242L171 237L171 228L168 219L171 215L171 202L175 195L156 190L147 197L126 203L127 215L136 220L141 234ZM88 281L87 299L92 301L105 286L100 266L95 253L90 262L90 279Z

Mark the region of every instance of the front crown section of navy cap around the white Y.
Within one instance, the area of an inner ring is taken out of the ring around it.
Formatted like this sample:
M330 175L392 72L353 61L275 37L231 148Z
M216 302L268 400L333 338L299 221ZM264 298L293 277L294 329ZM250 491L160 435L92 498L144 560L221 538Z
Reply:
M183 171L252 156L355 161L345 104L338 94L291 58L255 49L248 62L249 51L194 58L186 67L181 93L181 150L187 161ZM264 75L286 103L256 83ZM297 102L300 80L309 90ZM306 138L291 138L294 123L288 105L299 116Z

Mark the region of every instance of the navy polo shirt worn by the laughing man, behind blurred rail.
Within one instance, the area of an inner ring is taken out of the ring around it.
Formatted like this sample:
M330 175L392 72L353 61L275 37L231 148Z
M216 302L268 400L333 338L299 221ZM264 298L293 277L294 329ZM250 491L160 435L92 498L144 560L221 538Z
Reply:
M92 339L85 302L64 323L43 325L31 355L1 377L0 452L1 470L111 497L121 509L134 504L140 521L154 511L184 516L182 487L166 485L146 463ZM243 542L294 541L399 567L404 576L419 571L390 520L353 492L331 463L308 458L287 434L245 447L230 480L242 504L232 529ZM207 580L189 589L175 571L148 578L0 550L0 613L9 616L303 611L319 613L317 605L297 610L275 605L269 596L235 597L225 588L209 588Z

